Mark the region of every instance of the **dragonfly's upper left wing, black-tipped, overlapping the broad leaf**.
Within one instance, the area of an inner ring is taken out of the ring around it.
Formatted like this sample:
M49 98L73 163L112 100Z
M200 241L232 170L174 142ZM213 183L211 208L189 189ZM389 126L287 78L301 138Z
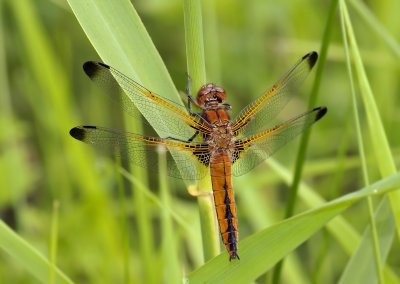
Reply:
M190 115L185 107L154 94L115 68L88 61L83 69L111 100L133 117L144 116L161 137L188 140L196 131L209 133L199 117Z

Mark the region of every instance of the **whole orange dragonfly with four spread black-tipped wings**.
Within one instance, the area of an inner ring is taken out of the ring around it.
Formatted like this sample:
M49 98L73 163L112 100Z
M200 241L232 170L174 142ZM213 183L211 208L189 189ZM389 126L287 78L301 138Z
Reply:
M202 86L196 98L187 86L185 107L107 64L89 61L83 65L89 78L133 117L143 116L145 123L151 122L159 137L90 125L74 127L70 135L148 169L157 169L160 151L164 151L171 177L199 180L209 174L222 242L229 260L239 259L232 175L247 173L327 113L326 107L315 107L271 126L317 59L314 51L304 55L234 119L225 102L226 91L213 83ZM193 111L192 105L201 111Z

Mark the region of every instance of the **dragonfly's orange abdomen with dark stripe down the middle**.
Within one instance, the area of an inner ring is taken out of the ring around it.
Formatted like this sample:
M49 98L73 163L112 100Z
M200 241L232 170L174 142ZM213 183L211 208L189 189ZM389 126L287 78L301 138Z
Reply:
M239 258L237 254L239 233L229 155L227 153L213 155L210 161L210 169L215 210L222 241L229 252L230 259Z

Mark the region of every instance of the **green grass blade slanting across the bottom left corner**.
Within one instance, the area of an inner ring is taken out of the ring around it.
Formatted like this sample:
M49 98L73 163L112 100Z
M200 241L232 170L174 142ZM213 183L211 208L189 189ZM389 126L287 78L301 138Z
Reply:
M53 270L54 283L73 283L60 269L13 232L0 220L0 248L12 256L22 267L42 283L48 283Z

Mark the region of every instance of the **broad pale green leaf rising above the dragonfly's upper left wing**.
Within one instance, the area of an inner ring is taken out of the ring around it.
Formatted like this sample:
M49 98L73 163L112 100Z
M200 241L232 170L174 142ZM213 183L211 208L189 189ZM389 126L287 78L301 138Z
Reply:
M105 63L153 92L179 101L167 69L130 1L68 3Z

